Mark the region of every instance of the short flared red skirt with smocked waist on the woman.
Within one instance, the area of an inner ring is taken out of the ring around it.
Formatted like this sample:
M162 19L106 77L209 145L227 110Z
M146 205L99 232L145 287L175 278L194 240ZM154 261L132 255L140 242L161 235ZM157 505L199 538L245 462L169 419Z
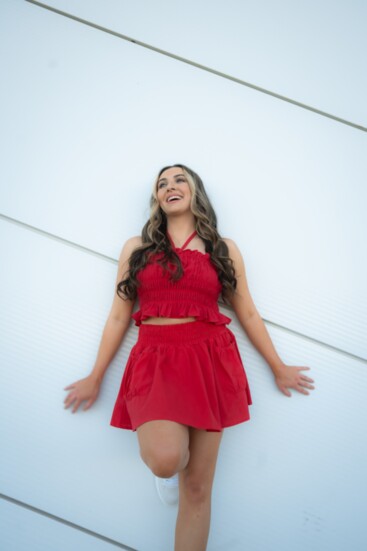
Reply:
M246 373L233 333L202 321L139 328L111 425L169 420L221 431L250 418Z

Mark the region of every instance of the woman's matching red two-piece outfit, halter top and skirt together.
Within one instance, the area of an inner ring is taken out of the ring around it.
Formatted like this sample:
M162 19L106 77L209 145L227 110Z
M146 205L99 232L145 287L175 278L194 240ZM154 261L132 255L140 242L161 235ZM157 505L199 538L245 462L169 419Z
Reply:
M136 430L166 419L220 431L249 419L252 403L236 339L219 312L221 284L210 255L186 249L183 276L171 281L158 255L138 274L138 342L128 358L111 425ZM175 325L141 324L149 317L195 317Z

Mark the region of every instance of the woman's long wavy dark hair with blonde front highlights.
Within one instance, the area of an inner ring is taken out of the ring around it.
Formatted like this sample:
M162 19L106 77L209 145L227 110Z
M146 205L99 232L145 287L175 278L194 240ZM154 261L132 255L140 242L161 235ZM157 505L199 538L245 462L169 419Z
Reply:
M201 178L191 168L182 164L165 166L154 182L153 193L150 198L150 216L145 223L141 237L142 245L136 248L129 258L129 269L125 279L117 285L117 294L123 299L134 300L137 296L139 281L137 275L153 255L159 253L156 262L159 262L170 274L172 281L179 280L183 275L181 260L172 249L167 237L167 217L159 206L157 198L157 184L162 173L169 168L181 168L191 190L191 211L195 216L195 229L205 243L205 251L218 273L222 285L222 300L228 299L236 290L236 277L233 261L228 256L228 247L217 230L217 216L209 197L205 191Z

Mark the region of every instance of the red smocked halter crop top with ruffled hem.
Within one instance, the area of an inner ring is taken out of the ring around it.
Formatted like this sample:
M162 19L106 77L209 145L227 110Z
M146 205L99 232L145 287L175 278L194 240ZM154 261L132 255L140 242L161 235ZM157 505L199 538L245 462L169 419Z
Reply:
M209 253L186 249L196 233L195 231L191 234L179 248L175 247L167 233L182 263L181 279L171 281L169 274L157 262L147 264L138 273L140 285L137 293L140 310L132 315L135 325L141 325L142 320L150 317L194 317L198 321L215 325L226 325L232 321L219 311L218 297L222 285L215 267L210 262Z

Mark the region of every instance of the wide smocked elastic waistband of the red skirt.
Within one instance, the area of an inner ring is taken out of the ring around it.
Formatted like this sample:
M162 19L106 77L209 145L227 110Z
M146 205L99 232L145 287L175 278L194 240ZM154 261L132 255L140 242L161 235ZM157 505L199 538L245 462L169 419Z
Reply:
M139 327L140 344L188 344L215 338L227 333L225 325L215 325L205 321L189 321L173 325L142 324Z

